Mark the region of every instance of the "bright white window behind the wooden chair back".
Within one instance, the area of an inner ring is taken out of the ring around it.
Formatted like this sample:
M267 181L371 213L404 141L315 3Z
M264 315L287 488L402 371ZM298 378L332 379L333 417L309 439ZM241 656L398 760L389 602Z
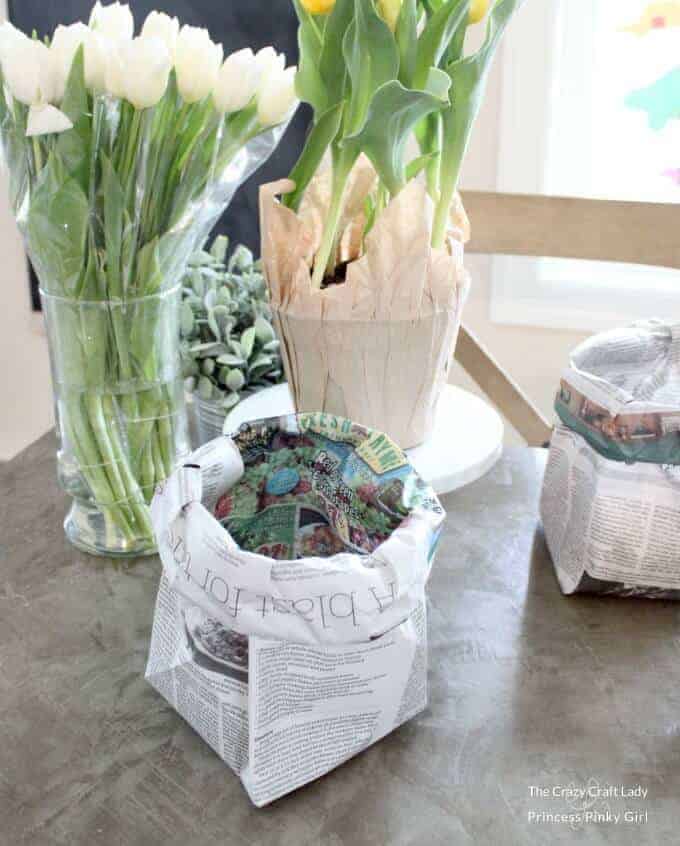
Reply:
M500 191L680 202L680 0L529 3L503 71ZM494 261L498 322L590 330L652 316L680 321L678 271Z

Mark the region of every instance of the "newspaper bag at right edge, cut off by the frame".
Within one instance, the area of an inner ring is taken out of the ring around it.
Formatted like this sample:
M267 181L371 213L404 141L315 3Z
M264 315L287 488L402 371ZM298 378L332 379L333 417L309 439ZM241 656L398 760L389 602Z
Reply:
M590 338L555 409L541 516L562 590L680 598L680 326Z

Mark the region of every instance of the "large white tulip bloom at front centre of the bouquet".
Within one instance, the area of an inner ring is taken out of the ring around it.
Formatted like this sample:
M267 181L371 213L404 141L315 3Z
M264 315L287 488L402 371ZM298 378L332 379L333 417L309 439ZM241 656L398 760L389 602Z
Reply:
M106 68L106 87L136 109L148 109L165 94L172 59L160 38L135 38L114 47Z

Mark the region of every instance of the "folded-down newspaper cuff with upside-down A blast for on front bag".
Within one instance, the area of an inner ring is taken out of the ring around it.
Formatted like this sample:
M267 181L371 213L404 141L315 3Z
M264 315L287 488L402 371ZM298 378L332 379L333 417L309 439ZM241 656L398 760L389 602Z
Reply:
M443 513L414 510L371 555L277 561L242 550L211 513L243 472L236 445L218 438L156 492L163 568L188 602L245 635L340 644L380 637L423 601Z

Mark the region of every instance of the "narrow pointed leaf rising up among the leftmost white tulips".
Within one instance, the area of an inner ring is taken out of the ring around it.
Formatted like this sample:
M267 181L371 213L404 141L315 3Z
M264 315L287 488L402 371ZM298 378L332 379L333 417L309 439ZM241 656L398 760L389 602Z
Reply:
M90 182L92 109L85 85L85 52L82 44L73 58L61 111L71 120L73 128L57 137L56 152L66 170L87 194Z

